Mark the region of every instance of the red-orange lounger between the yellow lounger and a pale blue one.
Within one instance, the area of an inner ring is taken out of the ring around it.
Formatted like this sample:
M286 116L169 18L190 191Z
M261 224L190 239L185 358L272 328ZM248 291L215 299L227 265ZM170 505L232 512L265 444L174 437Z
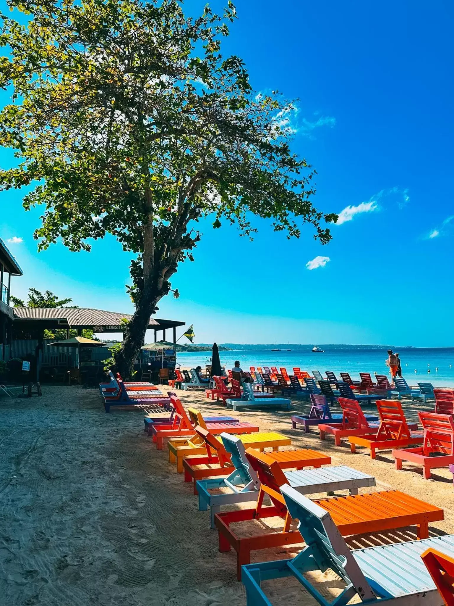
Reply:
M220 442L203 427L197 426L196 431L205 442L206 452L204 454L196 454L195 456L189 454L183 458L185 482L194 482L194 494L197 494L197 482L199 480L214 478L215 476L228 476L235 468L234 462L231 461L231 454L225 450L224 446L224 438L228 434L222 433L220 436L222 442ZM239 443L244 450L241 439ZM271 456L271 453L269 453L269 456ZM330 456L309 448L281 450L275 454L273 453L272 458L278 462L281 469L318 468L321 465L331 464Z

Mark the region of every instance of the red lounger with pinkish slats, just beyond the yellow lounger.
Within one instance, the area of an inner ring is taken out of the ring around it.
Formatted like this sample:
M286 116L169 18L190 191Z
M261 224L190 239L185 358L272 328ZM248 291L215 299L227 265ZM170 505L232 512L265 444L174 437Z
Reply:
M157 450L162 450L163 442L169 438L181 438L182 436L194 436L194 424L189 419L185 409L183 408L180 399L175 394L170 396L170 401L175 407L175 415L171 427L168 424L160 425L159 423L153 424L149 429L148 435L151 435L153 442L156 442ZM189 413L191 413L189 408ZM197 413L194 410L194 413ZM202 416L202 415L200 415ZM209 430L214 434L219 434L225 431L226 433L252 433L252 431L258 431L257 425L252 425L247 422L219 422L211 423Z

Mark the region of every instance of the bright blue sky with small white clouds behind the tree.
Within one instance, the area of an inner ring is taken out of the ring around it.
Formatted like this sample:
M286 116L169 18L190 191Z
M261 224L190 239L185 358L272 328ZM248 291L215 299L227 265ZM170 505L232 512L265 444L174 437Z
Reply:
M196 262L173 279L181 296L157 316L193 323L199 342L452 345L453 5L242 0L237 10L224 54L245 60L257 92L299 99L292 148L317 170L314 203L343 221L326 246L310 227L288 241L259 221L249 242L202 225ZM22 240L8 242L24 269L13 291L130 312L130 256L114 238L91 253L38 254L40 213L21 198L0 194L0 237Z

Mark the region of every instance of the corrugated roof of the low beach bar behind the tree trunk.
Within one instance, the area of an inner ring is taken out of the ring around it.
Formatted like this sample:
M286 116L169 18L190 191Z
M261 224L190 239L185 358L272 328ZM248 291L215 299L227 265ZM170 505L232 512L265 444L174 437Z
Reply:
M15 318L19 320L65 320L70 326L117 326L122 319L130 320L129 313L117 313L91 307L15 307ZM183 326L185 322L150 318L150 327L163 324Z

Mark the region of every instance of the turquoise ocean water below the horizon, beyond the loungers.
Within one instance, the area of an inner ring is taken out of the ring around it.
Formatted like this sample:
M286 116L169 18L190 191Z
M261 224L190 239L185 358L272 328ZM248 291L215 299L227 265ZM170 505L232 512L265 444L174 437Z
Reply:
M321 346L323 348L323 346ZM400 348L399 356L402 365L402 375L410 385L419 381L430 382L436 387L454 387L454 348ZM232 350L219 352L221 364L232 368L235 360L240 361L243 370L249 366L285 366L289 374L292 368L300 367L312 374L319 370L324 376L326 370L332 370L337 375L340 371L350 373L352 379L359 379L360 372L373 376L389 374L386 366L386 349L331 349L324 353L312 353L310 350L271 351L271 350ZM182 367L194 368L200 364L209 364L211 351L200 353L180 352L177 363Z

